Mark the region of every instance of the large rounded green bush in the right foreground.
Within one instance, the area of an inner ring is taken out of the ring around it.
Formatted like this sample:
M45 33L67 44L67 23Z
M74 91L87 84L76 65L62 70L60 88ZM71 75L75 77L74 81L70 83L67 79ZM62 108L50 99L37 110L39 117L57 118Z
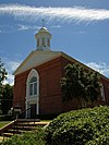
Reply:
M47 126L45 140L47 145L109 145L109 107L60 114Z

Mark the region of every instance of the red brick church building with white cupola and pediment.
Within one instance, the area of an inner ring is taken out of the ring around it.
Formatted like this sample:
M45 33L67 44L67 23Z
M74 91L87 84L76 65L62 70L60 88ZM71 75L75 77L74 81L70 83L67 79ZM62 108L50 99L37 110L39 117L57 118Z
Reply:
M35 114L59 114L78 109L77 100L62 102L60 78L68 63L78 63L92 70L62 51L50 50L51 34L41 27L35 35L37 49L32 51L14 72L13 107L26 111L26 118ZM94 70L92 70L94 71ZM109 80L101 77L101 100L109 105ZM29 109L31 108L31 109Z

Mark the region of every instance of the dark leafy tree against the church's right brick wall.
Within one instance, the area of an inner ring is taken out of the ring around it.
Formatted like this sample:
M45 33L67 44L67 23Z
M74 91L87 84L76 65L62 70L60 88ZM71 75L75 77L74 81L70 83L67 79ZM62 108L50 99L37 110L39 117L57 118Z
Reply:
M61 78L63 101L77 98L78 100L94 102L99 97L99 75L87 71L78 64L68 64L64 77Z

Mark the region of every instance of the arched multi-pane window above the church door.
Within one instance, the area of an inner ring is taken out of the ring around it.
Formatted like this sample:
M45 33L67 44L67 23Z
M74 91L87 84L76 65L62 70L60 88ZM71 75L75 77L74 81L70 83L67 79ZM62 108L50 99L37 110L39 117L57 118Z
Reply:
M29 82L29 96L37 95L37 77L33 76Z

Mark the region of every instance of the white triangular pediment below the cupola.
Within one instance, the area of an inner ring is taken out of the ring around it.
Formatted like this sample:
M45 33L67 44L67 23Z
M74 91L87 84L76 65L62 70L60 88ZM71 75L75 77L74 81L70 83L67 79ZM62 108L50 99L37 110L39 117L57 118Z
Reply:
M23 73L59 56L61 56L60 51L32 51L13 74L17 75L20 73Z

